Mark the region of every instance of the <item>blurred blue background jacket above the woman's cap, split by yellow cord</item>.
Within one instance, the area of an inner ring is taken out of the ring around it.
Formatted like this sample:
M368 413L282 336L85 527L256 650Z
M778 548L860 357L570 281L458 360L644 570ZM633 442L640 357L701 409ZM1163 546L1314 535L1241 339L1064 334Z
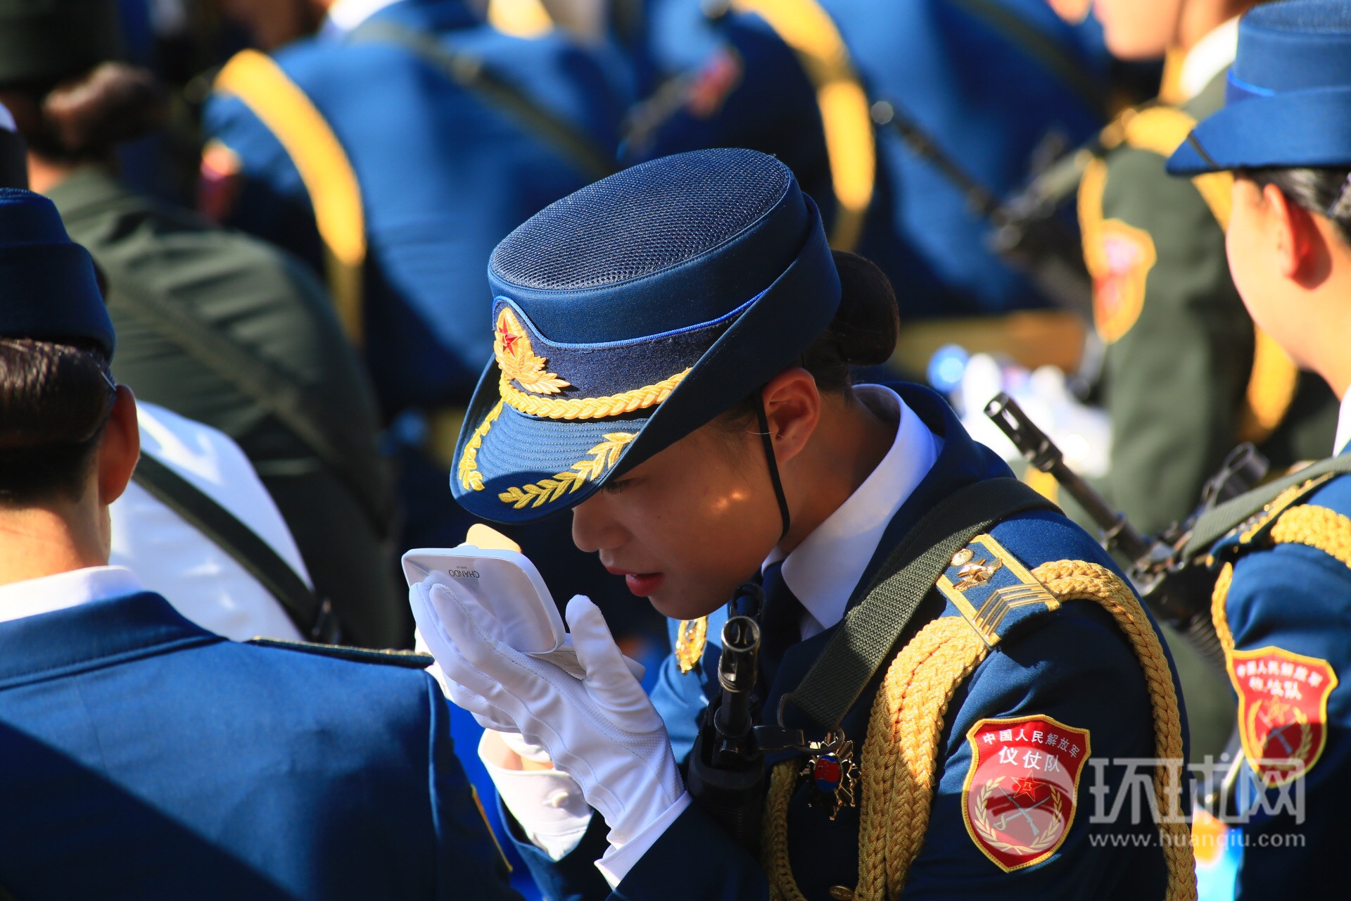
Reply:
M658 68L689 78L690 88L684 107L630 151L640 158L711 146L773 153L820 204L830 231L836 203L821 116L794 50L754 14L731 14L698 28L692 20L705 4L647 5L647 53ZM1074 147L1102 126L1109 58L1100 32L1067 26L1044 0L793 5L819 5L830 15L867 100L904 109L997 197L1029 178L1044 138L1059 135ZM897 293L902 316L1046 305L1027 277L988 249L989 222L948 177L893 127L877 127L874 135L873 201L861 242L846 250L869 257L905 285Z

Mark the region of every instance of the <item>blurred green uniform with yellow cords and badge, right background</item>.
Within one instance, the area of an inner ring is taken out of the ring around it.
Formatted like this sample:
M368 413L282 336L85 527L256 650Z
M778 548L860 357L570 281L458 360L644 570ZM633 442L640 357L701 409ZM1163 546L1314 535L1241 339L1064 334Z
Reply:
M1182 108L1127 112L1085 172L1079 222L1106 343L1112 416L1105 493L1144 532L1188 516L1238 443L1281 470L1323 457L1336 400L1301 374L1243 308L1224 254L1228 173L1165 173L1190 126L1224 103L1224 76Z

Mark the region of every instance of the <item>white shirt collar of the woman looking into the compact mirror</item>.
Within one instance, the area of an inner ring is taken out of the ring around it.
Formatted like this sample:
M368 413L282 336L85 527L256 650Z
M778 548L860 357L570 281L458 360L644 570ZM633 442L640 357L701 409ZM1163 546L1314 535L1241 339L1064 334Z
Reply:
M896 440L858 490L784 559L784 582L807 609L804 639L843 619L882 532L932 469L943 446L890 388L859 385L854 394L882 419L897 421ZM766 565L775 559L777 552Z

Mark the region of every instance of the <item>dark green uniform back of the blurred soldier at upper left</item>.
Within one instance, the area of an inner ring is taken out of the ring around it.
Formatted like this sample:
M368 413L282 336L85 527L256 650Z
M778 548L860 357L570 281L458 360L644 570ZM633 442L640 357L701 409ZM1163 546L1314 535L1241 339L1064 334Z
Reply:
M118 380L243 448L345 642L405 644L376 401L323 289L285 254L97 166L49 195L108 281Z

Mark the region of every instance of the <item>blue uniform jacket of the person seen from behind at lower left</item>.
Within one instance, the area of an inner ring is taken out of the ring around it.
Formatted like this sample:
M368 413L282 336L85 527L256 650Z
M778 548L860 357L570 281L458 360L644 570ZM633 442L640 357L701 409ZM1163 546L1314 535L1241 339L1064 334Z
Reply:
M236 644L142 593L0 623L0 885L505 898L426 673Z

